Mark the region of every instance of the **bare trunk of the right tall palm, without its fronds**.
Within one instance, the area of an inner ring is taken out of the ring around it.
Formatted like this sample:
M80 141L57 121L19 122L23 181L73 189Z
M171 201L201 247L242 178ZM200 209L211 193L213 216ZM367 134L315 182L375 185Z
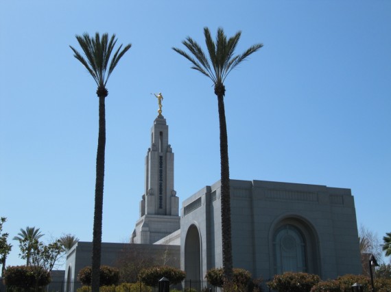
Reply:
M228 162L228 135L224 109L224 85L216 85L219 122L220 122L220 167L221 167L221 207L222 207L222 252L224 277L228 282L233 276L231 224L230 224L230 179Z

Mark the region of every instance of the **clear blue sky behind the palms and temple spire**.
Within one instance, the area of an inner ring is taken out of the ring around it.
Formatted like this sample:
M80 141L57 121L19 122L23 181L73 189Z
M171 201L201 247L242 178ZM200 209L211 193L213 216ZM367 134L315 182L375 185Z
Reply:
M240 4L239 4L240 3ZM220 178L211 81L171 50L202 29L264 47L226 79L230 177L347 187L357 224L391 231L391 1L0 2L0 215L5 232L91 241L97 147L92 77L75 34L132 43L108 81L103 241L139 218L162 92L181 199ZM14 248L8 265L23 264Z

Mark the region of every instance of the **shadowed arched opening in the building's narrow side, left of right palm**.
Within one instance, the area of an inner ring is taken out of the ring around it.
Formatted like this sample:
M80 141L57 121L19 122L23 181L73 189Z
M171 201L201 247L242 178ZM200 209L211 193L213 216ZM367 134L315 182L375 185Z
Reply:
M187 280L201 280L201 240L194 224L187 230L185 239L185 271Z

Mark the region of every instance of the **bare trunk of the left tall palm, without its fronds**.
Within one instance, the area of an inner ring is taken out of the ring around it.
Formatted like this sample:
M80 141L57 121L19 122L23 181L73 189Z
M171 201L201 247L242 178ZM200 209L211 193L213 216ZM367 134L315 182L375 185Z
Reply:
M99 88L97 93L99 92ZM102 213L103 213L103 188L104 188L104 152L106 147L106 111L104 94L99 94L99 134L97 146L97 165L95 181L95 209L93 224L93 258L91 289L99 292L100 259L102 246Z

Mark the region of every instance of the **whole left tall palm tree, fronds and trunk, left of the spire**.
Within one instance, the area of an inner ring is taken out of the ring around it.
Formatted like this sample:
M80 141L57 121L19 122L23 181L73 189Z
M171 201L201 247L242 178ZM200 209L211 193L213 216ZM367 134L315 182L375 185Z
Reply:
M122 44L114 55L111 55L117 39L113 34L109 40L108 34L99 33L94 37L88 34L76 36L86 59L73 47L74 57L82 63L97 83L97 96L99 98L99 134L97 145L96 180L95 180L95 209L93 223L93 258L92 258L92 279L91 288L93 292L99 291L99 267L102 246L102 211L103 211L103 189L104 189L104 152L106 147L106 114L105 98L108 96L106 83L112 70L117 66L119 59L130 49L131 44L126 45L122 50ZM111 61L110 61L111 57ZM108 63L110 61L110 66Z

